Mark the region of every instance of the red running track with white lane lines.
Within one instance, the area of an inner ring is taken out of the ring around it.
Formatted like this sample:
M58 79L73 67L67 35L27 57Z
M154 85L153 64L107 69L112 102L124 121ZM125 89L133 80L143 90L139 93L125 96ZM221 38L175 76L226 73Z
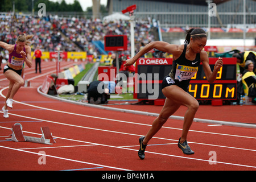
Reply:
M13 109L9 109L9 118L1 115L1 171L255 171L255 129L194 122L188 142L195 154L184 155L177 147L183 121L177 119L168 119L148 143L146 158L139 159L138 139L147 133L155 117L70 104L42 96L37 89L46 75L55 72L55 64L43 62L41 75L36 75L34 68L26 68L26 79L30 80L31 86L20 88ZM70 65L73 63L63 62L61 68ZM3 105L8 82L2 71L0 85L0 104ZM153 113L159 113L162 108L150 105L115 107ZM255 123L254 108L202 105L196 117ZM242 113L238 114L238 111ZM181 107L175 115L183 116L184 112L185 107ZM56 143L46 145L5 140L17 122L22 124L23 134L32 137L41 137L40 127L48 126Z

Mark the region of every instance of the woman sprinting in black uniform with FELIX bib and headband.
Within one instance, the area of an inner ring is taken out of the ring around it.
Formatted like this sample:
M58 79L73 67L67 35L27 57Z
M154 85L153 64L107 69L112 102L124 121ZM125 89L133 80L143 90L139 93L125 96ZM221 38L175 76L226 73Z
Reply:
M148 141L160 130L167 119L174 114L181 105L187 106L188 109L184 115L183 130L178 142L178 147L184 154L194 154L187 144L187 135L199 107L199 103L187 92L189 81L197 72L200 62L203 64L208 82L213 82L216 79L217 72L223 64L222 58L219 58L215 63L213 71L211 71L207 52L203 51L206 43L207 34L205 31L201 28L191 28L187 31L184 45L179 46L162 41L151 42L143 47L133 58L126 60L125 66L132 65L139 57L153 48L172 53L174 59L171 73L164 78L162 83L162 92L164 96L166 96L163 109L152 123L146 136L139 138L139 158L144 159L144 151Z

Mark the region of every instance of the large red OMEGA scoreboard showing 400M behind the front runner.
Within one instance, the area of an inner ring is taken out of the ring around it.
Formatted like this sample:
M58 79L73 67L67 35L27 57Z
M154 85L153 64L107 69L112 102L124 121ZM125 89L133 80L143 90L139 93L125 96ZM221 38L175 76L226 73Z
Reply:
M209 57L209 65L213 71L218 58ZM217 73L216 80L210 84L203 70L203 64L199 65L199 71L191 78L188 93L196 100L236 100L237 78L236 58L222 58L223 67ZM138 100L152 99L152 95L158 92L158 97L164 99L162 93L162 81L171 72L172 58L140 58L136 64L134 98ZM145 75L141 76L141 75ZM150 86L148 86L150 84Z

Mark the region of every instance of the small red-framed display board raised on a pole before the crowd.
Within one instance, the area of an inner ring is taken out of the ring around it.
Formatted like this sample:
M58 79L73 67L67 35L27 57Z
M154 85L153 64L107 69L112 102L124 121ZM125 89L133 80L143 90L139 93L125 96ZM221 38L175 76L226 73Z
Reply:
M107 35L104 37L105 51L126 51L127 35Z

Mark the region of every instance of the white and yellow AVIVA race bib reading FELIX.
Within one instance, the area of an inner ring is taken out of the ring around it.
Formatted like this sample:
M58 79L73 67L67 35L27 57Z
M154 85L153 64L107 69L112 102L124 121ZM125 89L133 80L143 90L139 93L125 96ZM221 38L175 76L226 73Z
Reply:
M179 81L189 80L196 74L197 71L198 67L188 67L177 64L175 79Z

